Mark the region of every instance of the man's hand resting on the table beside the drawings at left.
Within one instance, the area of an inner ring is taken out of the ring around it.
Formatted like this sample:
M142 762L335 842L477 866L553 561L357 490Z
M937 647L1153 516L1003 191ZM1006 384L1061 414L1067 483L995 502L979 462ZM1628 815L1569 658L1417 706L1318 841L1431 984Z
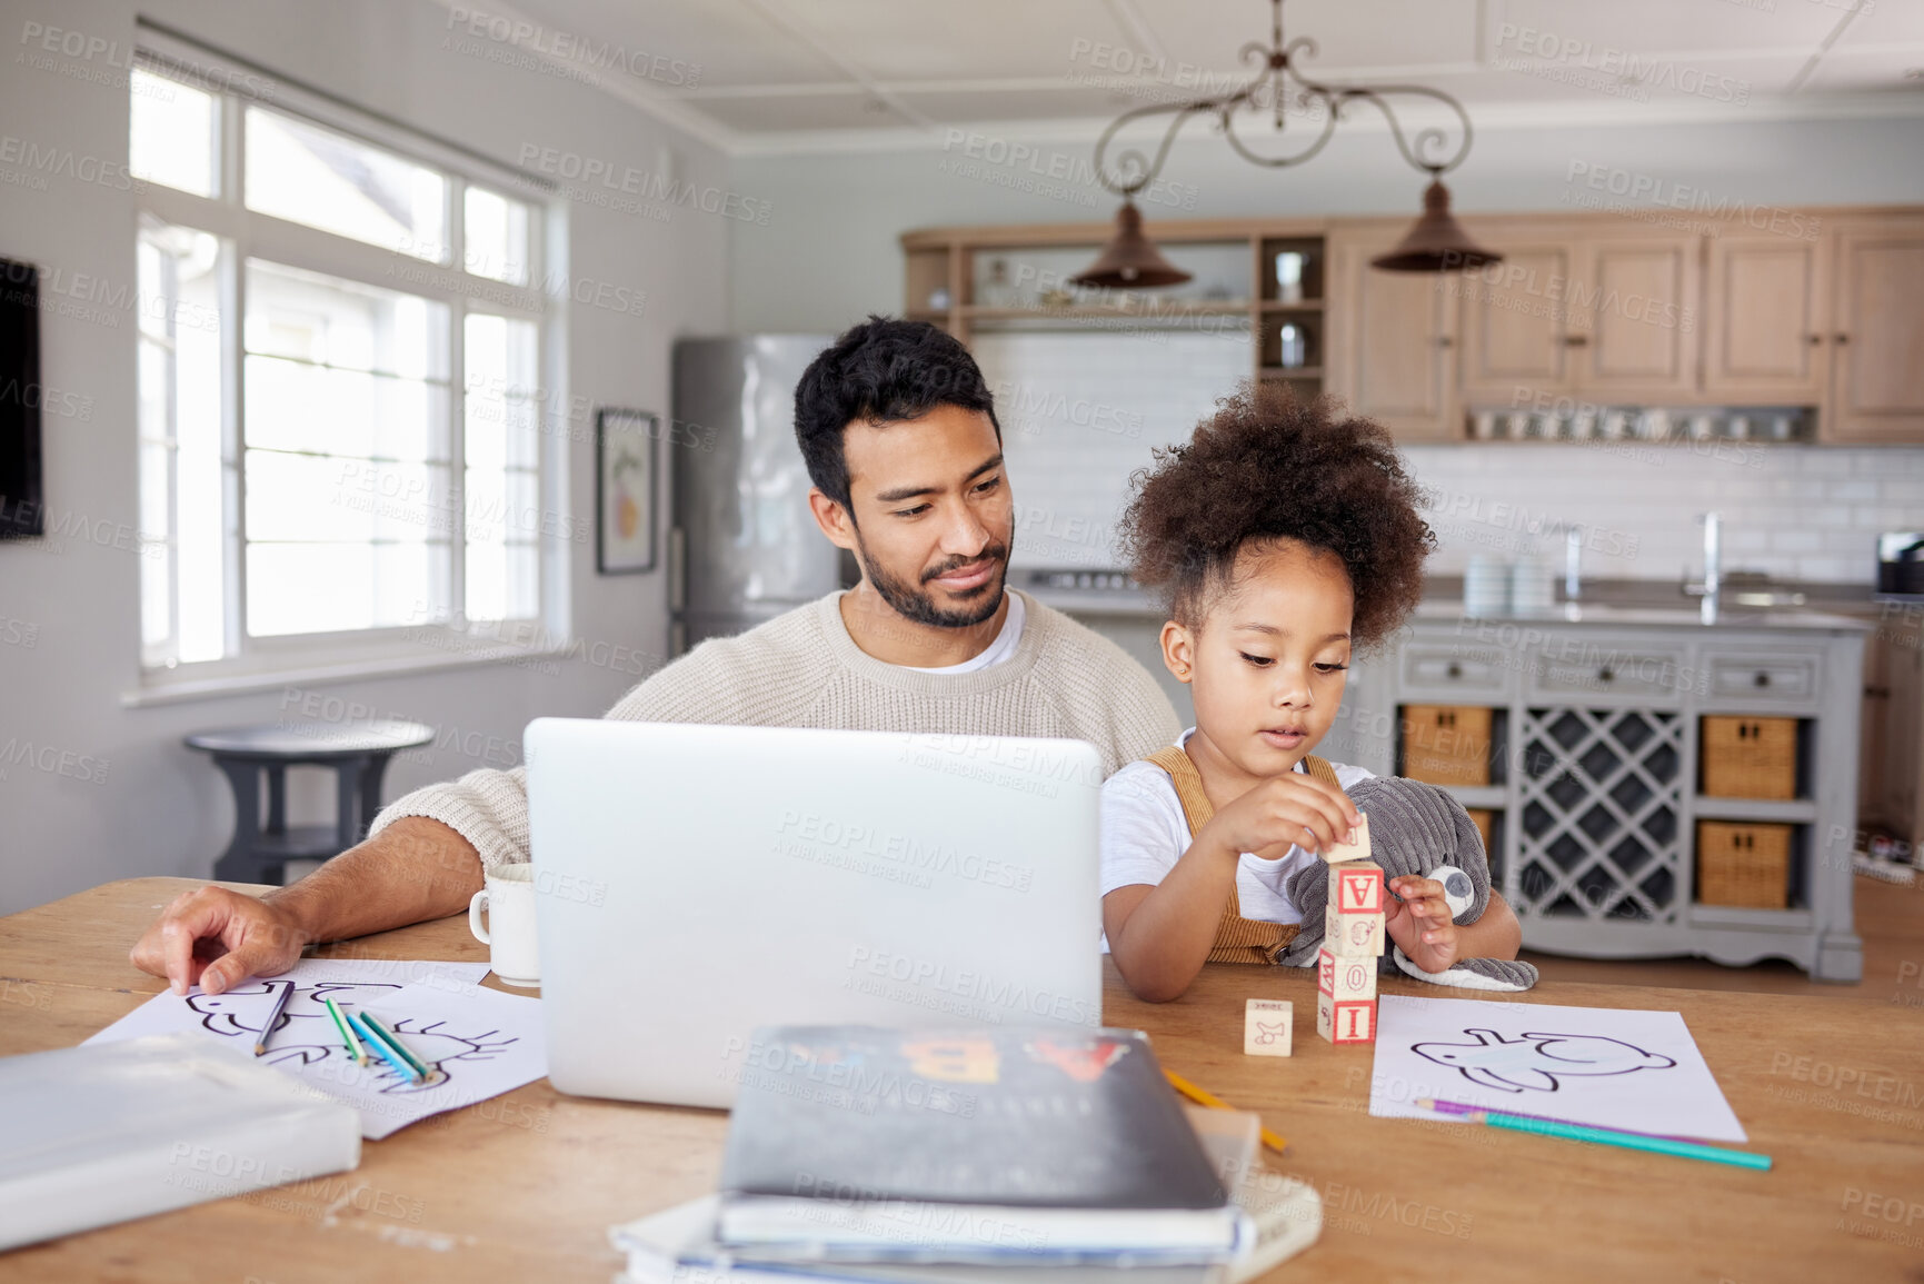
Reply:
M165 976L173 993L196 984L221 993L248 976L289 970L306 943L289 911L208 884L177 895L129 957L142 972Z

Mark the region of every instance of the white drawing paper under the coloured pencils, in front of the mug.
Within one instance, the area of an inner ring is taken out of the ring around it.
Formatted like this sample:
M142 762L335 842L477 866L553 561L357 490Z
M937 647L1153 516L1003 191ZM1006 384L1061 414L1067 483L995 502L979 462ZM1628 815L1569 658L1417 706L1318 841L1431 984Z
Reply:
M252 1051L281 986L292 982L294 995L260 1061L358 1109L362 1136L375 1140L548 1072L541 1003L487 989L477 984L483 976L485 963L302 959L281 976L221 995L204 995L198 986L187 995L156 995L87 1041L196 1030ZM373 1013L446 1078L414 1086L385 1061L356 1065L321 995L342 1013Z

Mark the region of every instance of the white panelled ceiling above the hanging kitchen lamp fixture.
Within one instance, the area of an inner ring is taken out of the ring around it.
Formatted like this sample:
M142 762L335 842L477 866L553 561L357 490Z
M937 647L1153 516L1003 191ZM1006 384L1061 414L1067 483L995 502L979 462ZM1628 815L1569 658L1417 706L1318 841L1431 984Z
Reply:
M1131 106L1241 83L1237 52L1270 27L1264 0L516 0L489 12L527 21L512 42L593 69L608 92L733 152L939 144L960 125L1093 133ZM1314 37L1316 56L1299 58L1310 75L1435 87L1480 125L1924 114L1924 0L1287 0L1283 35ZM608 69L608 46L625 69Z

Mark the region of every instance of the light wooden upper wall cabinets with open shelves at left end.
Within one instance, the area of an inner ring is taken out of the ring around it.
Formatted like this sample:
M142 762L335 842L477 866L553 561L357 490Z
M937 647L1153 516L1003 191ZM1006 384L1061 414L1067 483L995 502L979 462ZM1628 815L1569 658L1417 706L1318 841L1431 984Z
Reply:
M1466 410L1582 402L1809 408L1822 443L1924 443L1924 210L1812 208L1768 229L1749 214L1687 231L1614 212L1468 216L1505 258L1441 275L1370 268L1401 218L1164 219L1149 235L1170 254L1243 244L1249 266L1210 296L1016 308L974 298L977 252L1076 246L1062 281L1110 225L927 229L902 235L906 310L964 341L977 325L1247 325L1254 377L1328 389L1410 443L1464 441ZM1291 291L1276 275L1285 248Z

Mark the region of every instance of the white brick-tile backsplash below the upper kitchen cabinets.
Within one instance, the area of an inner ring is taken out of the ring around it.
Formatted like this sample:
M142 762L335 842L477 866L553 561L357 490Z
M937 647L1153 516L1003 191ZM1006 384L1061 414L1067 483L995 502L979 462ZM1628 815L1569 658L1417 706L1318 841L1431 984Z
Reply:
M1122 566L1116 520L1151 449L1185 441L1249 377L1243 333L975 335L1016 491L1018 566ZM1697 578L1703 527L1724 516L1724 570L1870 583L1876 531L1924 527L1924 447L1743 441L1405 447L1431 499L1435 574L1476 552L1562 568L1583 529L1583 574Z

